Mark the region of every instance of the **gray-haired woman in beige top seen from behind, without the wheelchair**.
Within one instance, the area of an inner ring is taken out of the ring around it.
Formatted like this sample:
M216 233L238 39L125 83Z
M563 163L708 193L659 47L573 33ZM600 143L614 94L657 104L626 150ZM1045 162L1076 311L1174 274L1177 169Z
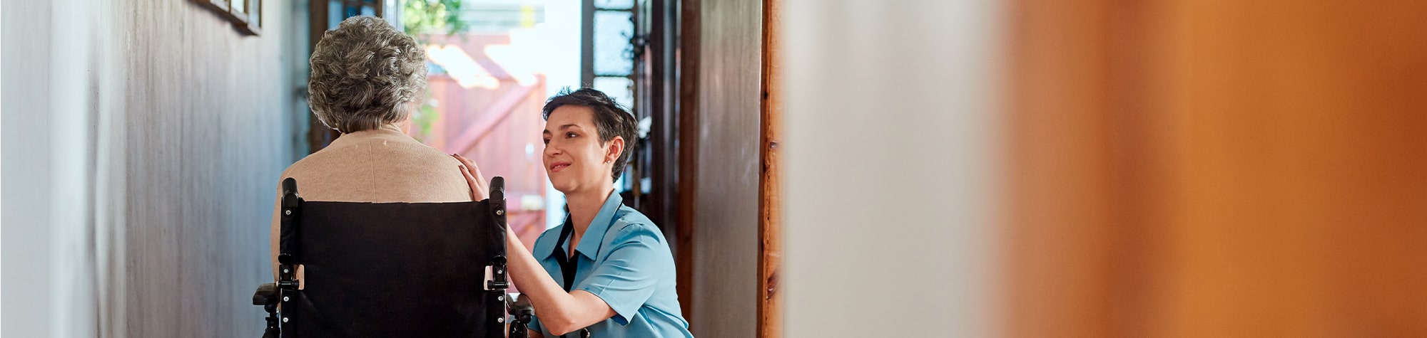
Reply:
M422 44L382 18L350 17L323 33L308 60L307 102L313 118L342 136L288 166L277 182L297 180L297 192L307 200L469 202L461 162L395 126L410 122L414 104L422 98L425 60ZM274 192L277 271L281 190Z

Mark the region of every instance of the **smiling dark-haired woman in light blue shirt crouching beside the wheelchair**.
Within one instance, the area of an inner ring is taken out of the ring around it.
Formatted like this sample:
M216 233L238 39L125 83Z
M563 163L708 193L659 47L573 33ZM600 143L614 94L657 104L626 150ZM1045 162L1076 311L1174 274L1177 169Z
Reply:
M531 337L694 337L669 244L614 192L634 148L634 116L589 88L555 95L542 111L545 172L569 217L535 240L534 254L507 234L511 277L535 305Z

